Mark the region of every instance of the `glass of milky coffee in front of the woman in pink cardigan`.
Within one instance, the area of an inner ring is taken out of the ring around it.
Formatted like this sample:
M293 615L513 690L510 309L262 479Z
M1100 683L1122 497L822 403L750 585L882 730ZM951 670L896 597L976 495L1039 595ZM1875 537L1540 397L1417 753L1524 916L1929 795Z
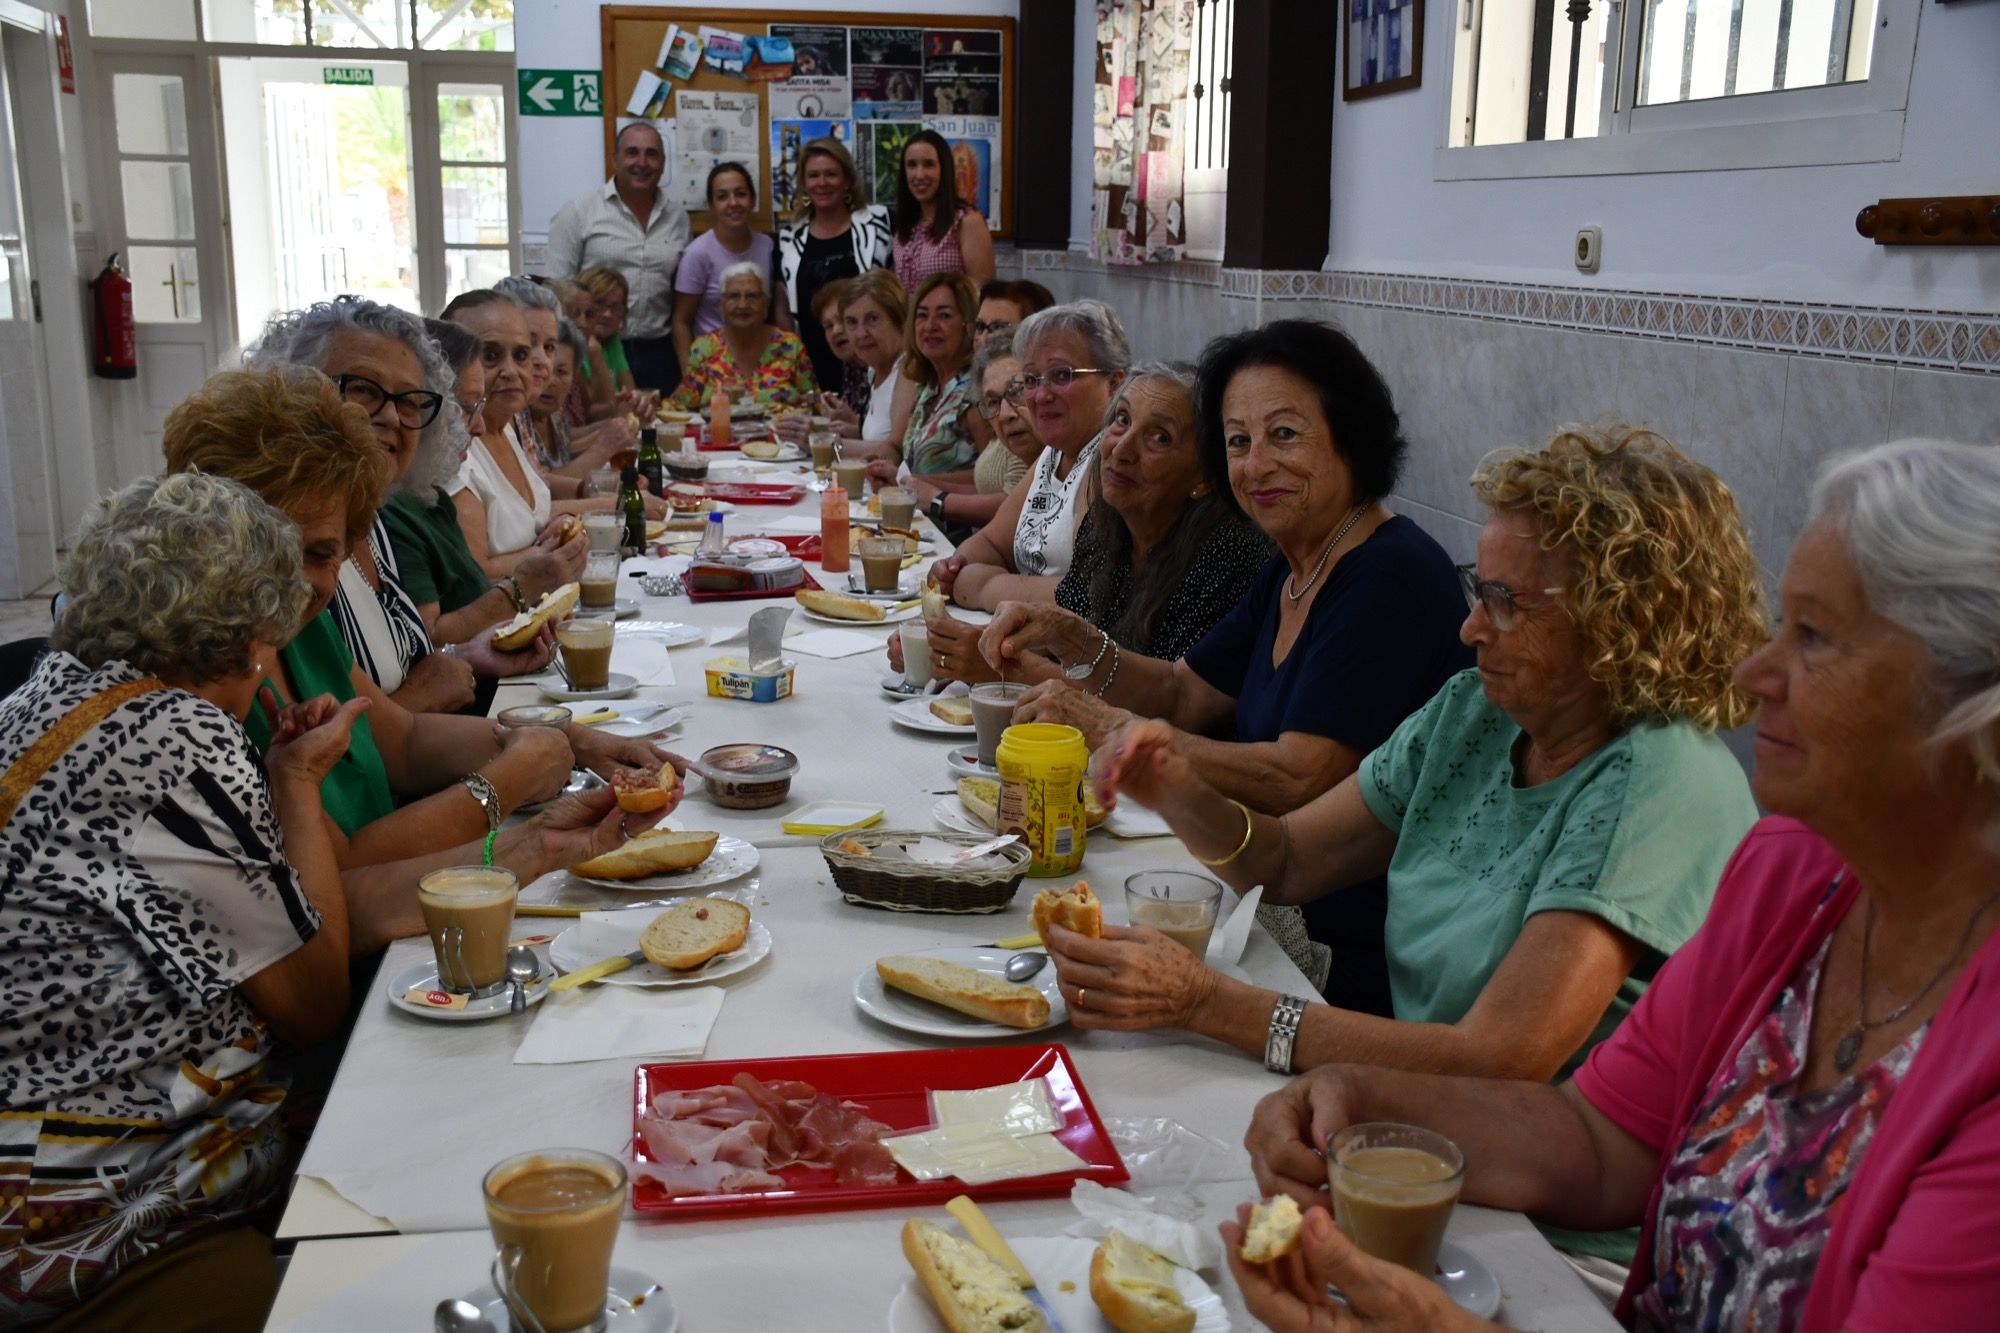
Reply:
M1416 1125L1348 1125L1326 1145L1326 1179L1334 1221L1362 1253L1436 1275L1438 1247L1466 1183L1466 1155L1456 1143Z

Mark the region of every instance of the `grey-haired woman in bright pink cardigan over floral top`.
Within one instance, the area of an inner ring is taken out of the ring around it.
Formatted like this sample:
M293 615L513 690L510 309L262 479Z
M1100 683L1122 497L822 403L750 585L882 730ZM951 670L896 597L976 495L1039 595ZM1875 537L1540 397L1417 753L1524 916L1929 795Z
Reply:
M1258 1105L1264 1189L1324 1205L1342 1125L1410 1121L1460 1143L1468 1203L1640 1223L1628 1327L1992 1327L2000 452L1836 460L1778 590L1778 638L1738 669L1776 819L1630 1019L1562 1087L1322 1067ZM1492 1327L1324 1211L1274 1265L1224 1237L1280 1333Z

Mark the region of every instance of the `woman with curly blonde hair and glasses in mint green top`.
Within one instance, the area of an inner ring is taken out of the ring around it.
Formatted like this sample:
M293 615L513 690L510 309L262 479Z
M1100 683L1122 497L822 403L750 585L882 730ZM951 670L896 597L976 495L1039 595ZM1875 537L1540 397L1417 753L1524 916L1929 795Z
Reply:
M1100 791L1160 811L1236 889L1312 903L1388 875L1394 1017L1306 1003L1148 929L1050 955L1078 1027L1186 1027L1282 1073L1328 1061L1548 1081L1574 1069L1700 927L1756 807L1718 727L1764 636L1728 486L1654 434L1568 430L1490 456L1478 669L1286 815L1218 793L1160 721L1100 749ZM1630 1237L1566 1237L1630 1259Z

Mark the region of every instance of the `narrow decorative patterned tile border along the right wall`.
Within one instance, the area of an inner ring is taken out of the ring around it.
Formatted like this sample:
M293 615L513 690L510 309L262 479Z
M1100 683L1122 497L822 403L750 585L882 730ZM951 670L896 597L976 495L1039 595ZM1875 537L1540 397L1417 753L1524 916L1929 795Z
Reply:
M1256 302L1318 300L1788 356L2000 374L2000 314L1978 310L1836 306L1358 270L1222 268L1200 262L1126 268L1066 250L1022 250L1020 258L1028 272L1072 270L1184 282Z

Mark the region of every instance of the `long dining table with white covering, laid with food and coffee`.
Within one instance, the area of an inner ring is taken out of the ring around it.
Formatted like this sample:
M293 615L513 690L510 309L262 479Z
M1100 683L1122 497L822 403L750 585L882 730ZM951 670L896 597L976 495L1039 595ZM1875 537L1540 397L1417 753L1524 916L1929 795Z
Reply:
M726 514L730 538L752 534L802 536L816 530L820 496L810 472L754 464L740 454L710 454L712 480L730 468L742 480L798 482L790 504L736 504ZM926 528L928 554L946 550ZM686 556L654 554L640 568L672 570ZM858 570L858 560L854 562ZM826 586L842 576L818 562L808 570ZM628 568L626 574L638 572ZM714 829L756 849L758 865L724 885L752 905L772 937L758 965L716 981L722 1007L698 1057L708 1061L816 1057L844 1053L924 1051L954 1045L880 1023L856 1003L856 979L882 955L932 947L992 945L1030 931L1028 901L1042 883L1022 883L1010 907L996 915L896 913L846 903L834 889L816 837L782 831L786 815L816 801L860 801L884 807L884 829L934 831L934 807L952 799L946 755L964 739L912 731L890 721L894 701L882 691L890 675L890 626L848 624L870 636L866 652L816 656L786 650L796 660L794 693L778 703L712 699L704 693L704 662L716 654L746 654L744 644L718 642L742 630L764 606L790 598L690 602L684 594L644 594L636 576L620 576L620 596L636 616L620 620L614 671L640 677L634 703L674 705L680 719L658 737L672 751L696 757L736 741L780 745L800 757L790 797L762 811L718 807L700 781L674 811L678 829ZM968 620L978 612L954 612ZM664 626L692 626L684 630ZM794 610L790 632L828 628ZM696 636L698 630L698 636ZM666 646L676 636L694 638ZM810 640L806 642L810 646ZM494 709L542 699L534 683L502 685ZM574 705L578 711L592 705ZM646 731L646 723L622 729ZM1124 921L1124 879L1144 869L1198 869L1172 837L1108 837L1092 831L1080 871L1104 897L1106 919ZM522 903L616 909L656 893L618 895L546 875L524 885ZM1224 895L1232 899L1232 895ZM1228 903L1224 905L1228 909ZM552 935L570 921L518 917L514 935ZM440 1023L394 1005L390 979L430 957L424 937L386 951L360 1003L360 1015L340 1059L330 1095L300 1163L278 1239L292 1245L270 1329L418 1329L430 1327L438 1301L486 1289L492 1241L486 1233L480 1179L512 1153L588 1147L630 1159L634 1133L634 1069L658 1055L578 1063L514 1063L516 1049L542 1013L480 1023ZM542 949L546 961L546 949ZM1284 951L1252 923L1240 967L1258 985L1312 995L1310 983ZM586 989L560 997L588 1015L610 1007ZM620 1005L630 1005L630 991ZM672 997L674 991L638 991ZM554 1003L554 1001L546 1001ZM670 999L658 1001L662 1007ZM664 1013L664 1009L662 1009ZM1174 1031L1104 1033L1064 1025L1006 1037L1014 1043L1062 1043L1114 1143L1148 1143L1134 1155L1128 1189L1158 1211L1194 1219L1214 1235L1238 1203L1256 1197L1244 1129L1260 1097L1284 1079L1220 1043ZM958 1043L964 1045L964 1043ZM758 1211L732 1217L654 1219L628 1209L614 1253L614 1277L638 1273L658 1283L678 1311L678 1327L724 1329L942 1329L928 1307L910 1297L910 1267L898 1231L904 1217L946 1223L942 1207L868 1211ZM1056 1237L1080 1215L1062 1193L1046 1199L988 1205L1008 1237ZM1518 1213L1464 1205L1450 1239L1480 1259L1500 1281L1500 1319L1510 1327L1558 1331L1614 1329L1606 1309L1562 1257ZM1226 1269L1202 1277L1222 1297L1236 1329L1262 1327L1244 1309ZM892 1305L898 1313L892 1319ZM914 1313L912 1313L914 1311ZM664 1327L654 1317L630 1327ZM1074 1325L1068 1333L1080 1333Z

